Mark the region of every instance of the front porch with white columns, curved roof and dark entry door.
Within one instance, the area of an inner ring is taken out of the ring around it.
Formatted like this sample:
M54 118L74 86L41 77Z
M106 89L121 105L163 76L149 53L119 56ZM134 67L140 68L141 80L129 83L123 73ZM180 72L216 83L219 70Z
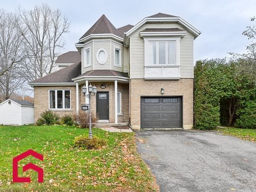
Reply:
M81 92L85 85L96 86L96 95L91 96L92 113L97 114L97 127L127 126L129 122L129 81L128 77L119 76L88 76L80 75L74 79L76 83L76 112L81 111L81 105L89 104L89 98Z

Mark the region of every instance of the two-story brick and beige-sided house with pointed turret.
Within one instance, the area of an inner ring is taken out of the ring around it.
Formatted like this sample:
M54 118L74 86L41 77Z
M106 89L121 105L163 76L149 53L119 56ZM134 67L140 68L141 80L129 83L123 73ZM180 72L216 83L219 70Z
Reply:
M58 57L59 70L30 83L35 120L48 109L79 113L88 103L81 89L91 84L99 123L192 128L193 41L199 34L163 13L118 29L102 15L75 44L77 52Z

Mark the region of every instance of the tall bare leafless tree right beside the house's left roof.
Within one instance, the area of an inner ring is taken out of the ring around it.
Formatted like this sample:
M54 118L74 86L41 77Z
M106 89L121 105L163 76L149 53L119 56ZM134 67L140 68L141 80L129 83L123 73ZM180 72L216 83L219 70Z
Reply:
M17 19L22 22L18 30L25 38L26 55L23 61L27 80L32 81L51 73L60 48L64 46L63 35L69 32L70 22L59 9L48 5L35 6L32 10L18 8Z

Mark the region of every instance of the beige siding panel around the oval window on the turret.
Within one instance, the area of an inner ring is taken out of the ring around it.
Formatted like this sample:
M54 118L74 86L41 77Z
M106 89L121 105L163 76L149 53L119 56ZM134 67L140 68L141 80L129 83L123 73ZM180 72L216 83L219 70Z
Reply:
M94 39L93 40L93 61L94 69L111 69L111 53L110 53L110 41L111 39ZM105 49L107 52L107 61L105 64L99 64L97 61L97 51L99 49Z

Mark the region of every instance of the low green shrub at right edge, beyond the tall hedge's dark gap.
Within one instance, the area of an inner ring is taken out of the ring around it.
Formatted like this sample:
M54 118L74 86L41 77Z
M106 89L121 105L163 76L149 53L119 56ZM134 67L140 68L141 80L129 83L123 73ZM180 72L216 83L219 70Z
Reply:
M235 126L238 128L256 128L256 101L245 102L245 108L237 110L239 118Z

